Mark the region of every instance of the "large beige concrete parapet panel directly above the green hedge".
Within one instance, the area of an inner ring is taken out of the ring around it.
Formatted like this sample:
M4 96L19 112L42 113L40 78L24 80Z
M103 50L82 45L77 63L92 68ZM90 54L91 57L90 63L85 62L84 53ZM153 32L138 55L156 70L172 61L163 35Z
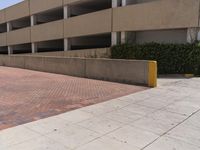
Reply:
M199 0L159 0L113 9L116 32L188 28L198 24Z

